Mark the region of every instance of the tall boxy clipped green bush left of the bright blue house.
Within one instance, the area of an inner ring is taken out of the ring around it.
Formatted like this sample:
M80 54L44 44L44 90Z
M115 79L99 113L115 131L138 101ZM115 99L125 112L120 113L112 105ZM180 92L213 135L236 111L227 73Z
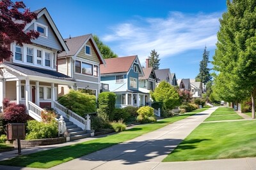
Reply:
M102 92L98 97L98 115L106 122L114 119L116 94L113 92Z

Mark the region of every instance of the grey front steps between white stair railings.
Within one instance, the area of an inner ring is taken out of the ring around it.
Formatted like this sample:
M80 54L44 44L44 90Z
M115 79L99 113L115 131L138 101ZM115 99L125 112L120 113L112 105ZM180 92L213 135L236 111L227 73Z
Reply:
M73 122L70 122L68 118L64 118L64 121L66 123L67 132L70 134L70 141L88 138L91 136L90 133L86 133L86 131L83 131L81 127L77 127L77 125L73 124Z

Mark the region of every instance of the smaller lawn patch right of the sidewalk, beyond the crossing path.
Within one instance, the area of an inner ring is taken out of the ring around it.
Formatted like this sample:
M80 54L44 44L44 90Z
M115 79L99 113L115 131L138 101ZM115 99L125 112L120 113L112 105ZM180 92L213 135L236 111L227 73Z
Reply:
M232 110L232 108L220 107L216 111L214 111L210 117L205 119L204 122L238 119L243 119L243 117L237 115L237 113L234 110Z

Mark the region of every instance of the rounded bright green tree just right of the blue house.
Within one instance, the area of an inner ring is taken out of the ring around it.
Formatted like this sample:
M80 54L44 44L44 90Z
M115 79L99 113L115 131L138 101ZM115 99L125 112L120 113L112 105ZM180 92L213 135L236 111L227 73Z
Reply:
M154 101L163 103L164 110L172 110L175 106L180 105L179 93L166 81L161 81L154 92L150 92L150 94Z

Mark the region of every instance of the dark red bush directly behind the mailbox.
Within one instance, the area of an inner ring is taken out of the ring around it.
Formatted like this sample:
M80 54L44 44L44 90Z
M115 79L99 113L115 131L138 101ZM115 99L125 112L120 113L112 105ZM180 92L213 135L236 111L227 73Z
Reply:
M8 123L25 123L28 120L24 104L10 104L4 110L4 120Z

